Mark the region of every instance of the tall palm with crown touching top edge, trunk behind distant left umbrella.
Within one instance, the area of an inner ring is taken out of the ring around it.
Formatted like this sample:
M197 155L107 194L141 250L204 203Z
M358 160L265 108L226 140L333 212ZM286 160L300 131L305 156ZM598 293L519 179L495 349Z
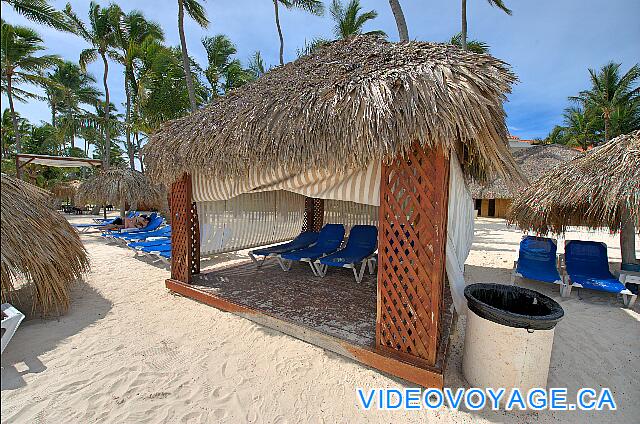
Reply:
M73 12L71 4L67 3L65 13L73 23L76 33L91 44L90 48L84 49L80 52L80 69L85 71L87 69L87 65L96 61L98 56L102 59L104 69L102 74L102 84L104 86L105 96L104 119L105 122L109 122L109 109L111 103L109 98L109 84L107 82L109 76L109 62L107 60L107 56L117 61L121 60L115 46L118 44L117 25L120 22L122 10L115 4L110 4L108 7L102 8L99 4L92 1L89 4L89 27L87 27L75 12ZM104 140L107 151L109 151L111 147L109 127L109 125L105 124ZM104 156L103 162L104 169L109 169L109 155Z

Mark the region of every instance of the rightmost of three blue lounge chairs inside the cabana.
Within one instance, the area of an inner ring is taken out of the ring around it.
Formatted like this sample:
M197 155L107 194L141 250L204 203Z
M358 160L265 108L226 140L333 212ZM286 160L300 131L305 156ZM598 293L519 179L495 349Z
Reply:
M316 261L318 275L324 277L330 266L351 268L356 282L359 283L367 266L369 266L369 273L373 274L373 264L376 261L374 254L377 248L378 229L374 225L355 225L349 232L344 249ZM362 263L360 271L356 269L359 263Z

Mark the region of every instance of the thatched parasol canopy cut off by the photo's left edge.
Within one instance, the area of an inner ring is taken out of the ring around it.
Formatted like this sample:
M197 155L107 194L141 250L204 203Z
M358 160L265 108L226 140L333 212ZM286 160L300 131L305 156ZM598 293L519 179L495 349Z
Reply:
M2 301L27 283L45 315L68 308L69 285L89 267L78 233L51 204L44 190L2 174Z

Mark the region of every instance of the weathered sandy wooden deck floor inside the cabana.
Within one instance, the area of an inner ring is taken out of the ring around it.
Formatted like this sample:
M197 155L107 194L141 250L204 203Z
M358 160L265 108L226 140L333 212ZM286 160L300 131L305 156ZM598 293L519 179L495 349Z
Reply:
M330 268L320 278L306 263L284 272L272 260L262 268L247 262L198 274L192 286L363 347L375 345L375 274L356 283L350 269Z

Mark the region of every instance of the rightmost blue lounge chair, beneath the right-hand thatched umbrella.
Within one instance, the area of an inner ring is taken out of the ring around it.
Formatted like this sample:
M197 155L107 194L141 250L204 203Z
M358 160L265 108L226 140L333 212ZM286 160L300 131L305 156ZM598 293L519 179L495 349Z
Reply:
M562 256L565 272L572 287L621 294L624 305L633 306L633 294L609 271L607 245L595 241L567 240ZM568 293L568 294L569 294Z

